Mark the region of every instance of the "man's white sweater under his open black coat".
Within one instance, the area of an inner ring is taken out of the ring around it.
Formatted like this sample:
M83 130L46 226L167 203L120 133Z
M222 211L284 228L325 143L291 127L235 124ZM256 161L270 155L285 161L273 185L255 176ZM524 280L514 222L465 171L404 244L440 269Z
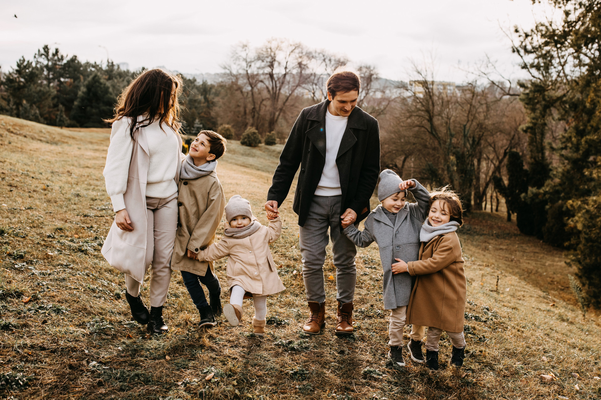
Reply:
M326 163L323 166L322 178L317 184L316 196L338 196L342 194L336 157L346 130L347 121L349 121L349 117L335 116L330 114L329 110L326 110Z

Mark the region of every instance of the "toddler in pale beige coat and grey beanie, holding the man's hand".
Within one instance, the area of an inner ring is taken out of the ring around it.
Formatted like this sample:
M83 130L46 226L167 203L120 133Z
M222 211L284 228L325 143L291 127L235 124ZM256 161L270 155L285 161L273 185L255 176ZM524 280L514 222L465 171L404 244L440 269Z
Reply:
M242 300L245 293L252 293L255 315L252 329L255 335L263 336L267 315L267 296L285 289L269 250L282 233L279 216L267 216L269 226L252 215L251 204L239 195L232 196L225 206L224 237L221 241L198 252L199 261L215 261L228 257L227 279L230 287L230 302L224 306L224 315L231 326L242 320Z

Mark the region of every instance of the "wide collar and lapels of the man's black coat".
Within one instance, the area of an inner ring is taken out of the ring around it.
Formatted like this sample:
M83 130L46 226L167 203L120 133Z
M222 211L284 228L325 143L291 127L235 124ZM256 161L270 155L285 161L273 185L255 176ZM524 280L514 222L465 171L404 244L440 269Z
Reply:
M326 157L326 112L328 112L328 104L330 104L329 100L316 104L311 108L311 111L307 115L307 119L319 122L319 124L316 124L307 130L307 136L311 139L311 142L313 142L324 158ZM347 152L357 142L357 137L355 133L353 133L353 129L367 129L367 120L365 119L364 114L364 111L359 107L355 107L350 113L349 120L346 124L346 130L344 130L343 137L340 140L340 147L338 148L336 158Z

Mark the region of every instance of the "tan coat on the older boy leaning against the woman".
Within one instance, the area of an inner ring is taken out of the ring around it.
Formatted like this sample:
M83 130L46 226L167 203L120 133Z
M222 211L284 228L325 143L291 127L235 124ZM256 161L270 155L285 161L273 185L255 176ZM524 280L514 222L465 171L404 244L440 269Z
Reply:
M212 261L188 258L187 249L197 253L215 242L215 231L224 215L225 196L217 173L196 179L180 179L178 184L178 224L171 257L171 269L204 276Z

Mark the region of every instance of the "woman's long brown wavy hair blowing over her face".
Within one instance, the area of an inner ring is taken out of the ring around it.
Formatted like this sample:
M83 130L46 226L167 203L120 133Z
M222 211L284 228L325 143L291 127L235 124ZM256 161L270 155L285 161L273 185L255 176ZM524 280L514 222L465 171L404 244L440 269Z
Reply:
M175 85L175 91L173 86ZM115 122L120 118L129 117L132 124L129 134L133 140L136 129L147 127L156 119L159 120L161 130L165 122L174 131L180 128L180 103L179 95L182 93L182 79L174 74L154 68L146 70L136 76L132 82L123 89L117 99L115 116L105 122ZM169 104L171 103L171 104ZM138 121L138 116L145 116ZM164 130L163 130L164 132Z

